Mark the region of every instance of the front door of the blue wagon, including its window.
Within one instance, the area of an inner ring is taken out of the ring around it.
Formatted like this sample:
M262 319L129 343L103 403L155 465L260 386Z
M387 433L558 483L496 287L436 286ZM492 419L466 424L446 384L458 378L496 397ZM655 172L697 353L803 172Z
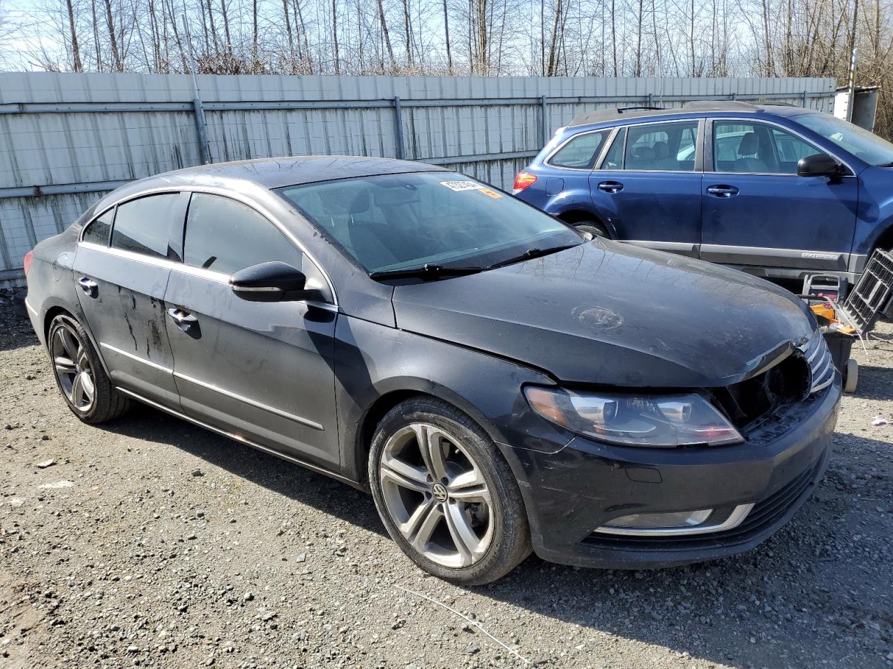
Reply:
M772 123L714 119L710 129L701 258L846 271L858 204L852 172L797 176L797 161L826 152Z

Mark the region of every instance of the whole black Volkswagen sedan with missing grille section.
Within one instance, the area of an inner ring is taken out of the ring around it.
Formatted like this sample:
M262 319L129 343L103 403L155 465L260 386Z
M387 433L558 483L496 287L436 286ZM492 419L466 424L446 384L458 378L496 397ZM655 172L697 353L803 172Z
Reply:
M302 157L122 186L26 258L87 423L130 401L371 490L421 568L718 558L822 474L840 396L796 297L589 239L461 174Z

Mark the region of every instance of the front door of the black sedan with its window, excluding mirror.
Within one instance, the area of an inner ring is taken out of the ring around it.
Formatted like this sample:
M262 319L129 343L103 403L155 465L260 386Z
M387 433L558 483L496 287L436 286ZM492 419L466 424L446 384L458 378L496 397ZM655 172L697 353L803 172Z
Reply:
M313 261L260 213L194 193L183 265L165 301L180 404L188 416L271 450L337 469L332 354L337 310L254 302L228 284L239 269L280 260L325 285Z

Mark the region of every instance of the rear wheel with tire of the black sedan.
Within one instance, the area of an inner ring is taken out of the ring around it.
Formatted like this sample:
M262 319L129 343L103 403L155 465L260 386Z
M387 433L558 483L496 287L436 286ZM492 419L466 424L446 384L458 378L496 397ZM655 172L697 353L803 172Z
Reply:
M130 401L114 389L96 349L77 320L59 314L46 337L53 376L71 413L96 425L120 417Z

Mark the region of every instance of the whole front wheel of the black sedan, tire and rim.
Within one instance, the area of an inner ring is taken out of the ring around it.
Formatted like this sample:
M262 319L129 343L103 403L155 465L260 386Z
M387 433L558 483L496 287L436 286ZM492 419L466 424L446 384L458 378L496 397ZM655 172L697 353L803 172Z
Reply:
M508 464L480 425L447 402L420 397L382 418L369 481L388 534L429 574L481 585L530 555Z

